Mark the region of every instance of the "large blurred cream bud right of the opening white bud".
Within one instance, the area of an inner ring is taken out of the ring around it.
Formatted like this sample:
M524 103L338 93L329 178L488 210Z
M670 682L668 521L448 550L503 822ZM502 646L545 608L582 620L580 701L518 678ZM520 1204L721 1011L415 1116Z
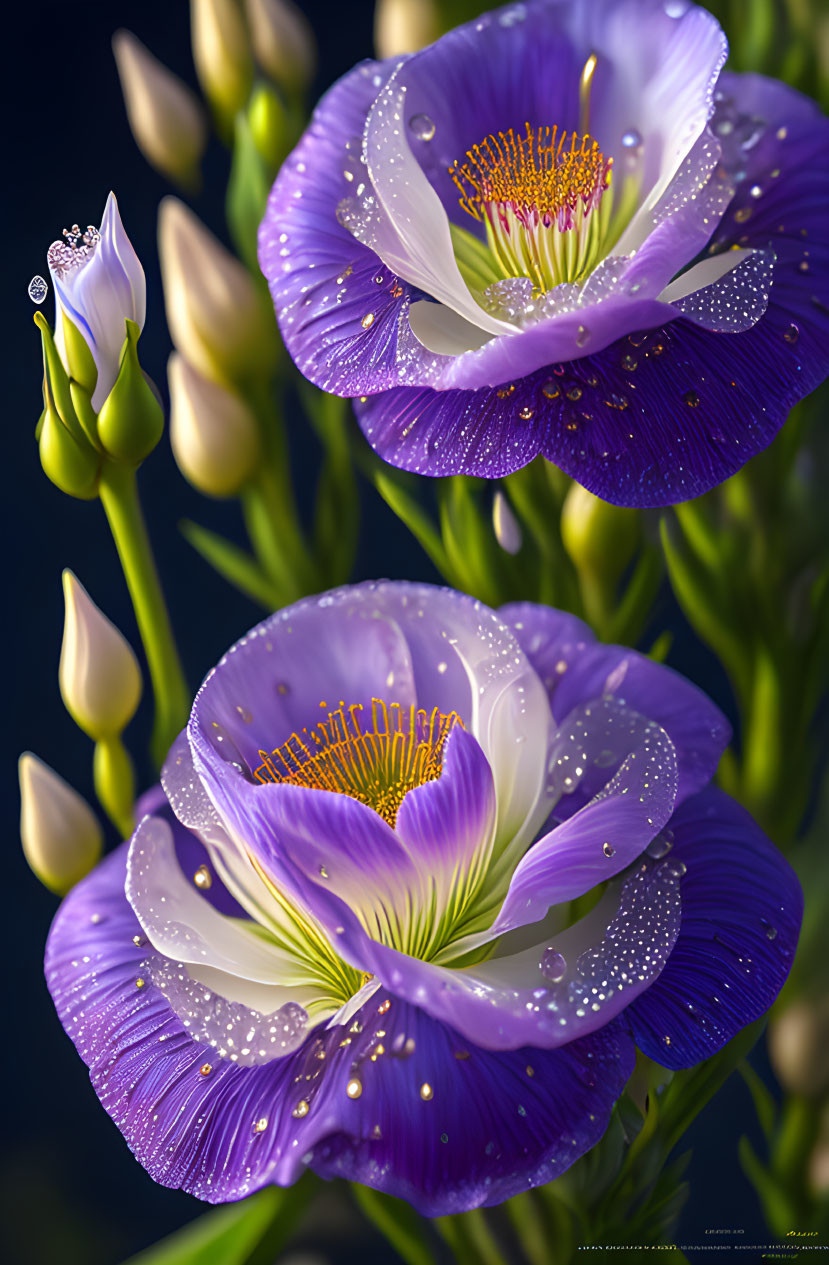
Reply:
M176 350L223 382L271 372L277 334L251 273L177 197L158 213L167 324Z

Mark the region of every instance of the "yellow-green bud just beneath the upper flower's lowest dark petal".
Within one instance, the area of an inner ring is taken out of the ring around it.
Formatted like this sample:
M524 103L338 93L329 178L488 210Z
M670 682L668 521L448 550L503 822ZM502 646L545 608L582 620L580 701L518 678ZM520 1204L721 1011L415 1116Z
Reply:
M562 506L561 535L577 571L616 578L637 546L639 511L608 505L581 483L573 483Z

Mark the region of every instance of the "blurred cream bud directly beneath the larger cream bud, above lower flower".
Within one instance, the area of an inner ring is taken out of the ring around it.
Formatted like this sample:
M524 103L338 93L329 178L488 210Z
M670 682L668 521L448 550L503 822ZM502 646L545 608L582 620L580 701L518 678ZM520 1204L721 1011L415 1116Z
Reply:
M203 377L176 352L167 376L170 441L178 469L208 496L235 496L259 455L256 417L239 396Z

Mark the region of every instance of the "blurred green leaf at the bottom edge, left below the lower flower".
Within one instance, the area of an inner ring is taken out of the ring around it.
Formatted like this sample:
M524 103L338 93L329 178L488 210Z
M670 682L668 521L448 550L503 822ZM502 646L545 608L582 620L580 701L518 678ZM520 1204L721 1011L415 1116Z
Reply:
M177 1230L127 1265L254 1265L254 1252L265 1246L273 1260L305 1206L299 1187L267 1187L240 1203L214 1208Z

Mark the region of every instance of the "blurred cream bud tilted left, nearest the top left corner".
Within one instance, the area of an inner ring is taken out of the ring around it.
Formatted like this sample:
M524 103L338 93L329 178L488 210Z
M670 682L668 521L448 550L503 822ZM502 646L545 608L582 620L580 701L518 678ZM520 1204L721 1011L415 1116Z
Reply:
M192 187L208 143L197 96L130 30L115 32L113 52L138 148L158 171Z

